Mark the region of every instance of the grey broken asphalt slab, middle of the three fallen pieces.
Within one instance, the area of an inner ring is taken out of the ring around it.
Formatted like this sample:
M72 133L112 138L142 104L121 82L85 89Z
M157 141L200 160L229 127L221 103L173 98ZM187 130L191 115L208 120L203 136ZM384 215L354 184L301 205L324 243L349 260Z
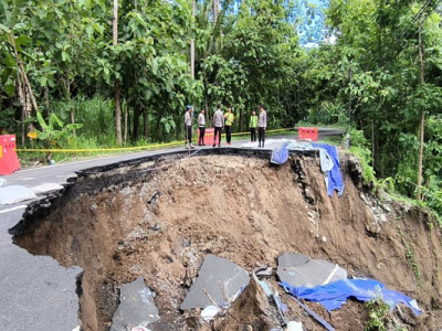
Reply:
M208 255L197 280L181 303L181 309L206 308L213 305L204 290L217 305L228 302L249 282L250 276L245 269L225 258Z

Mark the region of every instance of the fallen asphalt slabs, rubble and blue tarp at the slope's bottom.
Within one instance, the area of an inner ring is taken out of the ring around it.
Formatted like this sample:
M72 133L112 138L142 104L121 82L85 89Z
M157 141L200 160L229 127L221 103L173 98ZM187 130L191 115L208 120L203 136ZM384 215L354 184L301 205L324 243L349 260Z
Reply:
M110 331L157 330L158 324L151 324L161 322L155 296L143 278L123 286ZM362 302L381 298L391 310L404 305L415 316L421 313L415 300L386 289L377 280L347 279L346 270L338 265L293 253L278 257L275 274L263 265L251 276L228 259L208 255L180 308L198 314L198 330L231 330L238 328L239 321L244 330L311 330L301 320L287 317L287 307L296 305L322 328L332 331L334 327L302 301L318 302L330 312L340 309L348 298ZM154 328L148 329L149 324Z

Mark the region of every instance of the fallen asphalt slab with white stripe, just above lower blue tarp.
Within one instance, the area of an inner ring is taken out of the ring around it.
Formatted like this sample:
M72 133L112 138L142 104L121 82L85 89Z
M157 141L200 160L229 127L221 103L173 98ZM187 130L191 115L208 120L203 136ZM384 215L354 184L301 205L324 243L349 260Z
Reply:
M294 287L315 287L347 279L347 271L322 259L309 259L302 254L285 253L277 259L276 275Z

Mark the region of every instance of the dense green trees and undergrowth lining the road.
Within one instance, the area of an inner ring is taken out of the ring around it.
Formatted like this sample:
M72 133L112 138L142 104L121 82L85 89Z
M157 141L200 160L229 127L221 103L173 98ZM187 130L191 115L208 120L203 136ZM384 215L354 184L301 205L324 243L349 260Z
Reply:
M208 120L231 105L234 132L263 104L269 129L345 127L367 183L440 218L439 2L323 4L0 0L0 130L28 149L137 147L182 140L188 104Z

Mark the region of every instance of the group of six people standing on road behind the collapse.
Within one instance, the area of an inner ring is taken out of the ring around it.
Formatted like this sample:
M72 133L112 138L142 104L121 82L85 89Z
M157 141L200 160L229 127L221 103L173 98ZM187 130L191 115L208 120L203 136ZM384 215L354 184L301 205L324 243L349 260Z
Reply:
M186 132L186 148L193 148L192 145L192 106L186 106L187 111L185 114L185 132ZM206 135L206 115L204 109L201 109L201 113L198 115L198 128L200 130L198 146L206 146L204 143L204 135ZM231 145L232 141L232 126L234 124L234 115L232 114L232 107L228 107L228 111L225 114L222 113L221 106L218 107L218 110L213 114L212 126L213 126L213 146L212 147L221 147L221 134L225 128L225 140L227 146ZM256 111L252 111L252 116L250 117L249 122L250 128L250 140L251 142L256 141L256 131L259 139L259 147L264 147L265 142L265 129L267 128L267 113L264 109L264 106L260 106L260 115L256 115Z

